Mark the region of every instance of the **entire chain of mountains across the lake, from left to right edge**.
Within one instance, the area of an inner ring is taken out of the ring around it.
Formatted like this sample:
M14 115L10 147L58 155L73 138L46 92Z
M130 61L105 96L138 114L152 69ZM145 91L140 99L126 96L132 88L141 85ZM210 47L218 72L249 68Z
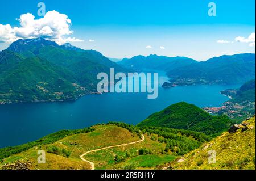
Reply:
M96 93L100 72L154 69L173 85L245 83L255 78L255 54L235 54L197 62L187 57L135 56L118 63L100 52L43 38L20 39L0 52L0 104L75 100ZM170 86L171 85L171 86Z

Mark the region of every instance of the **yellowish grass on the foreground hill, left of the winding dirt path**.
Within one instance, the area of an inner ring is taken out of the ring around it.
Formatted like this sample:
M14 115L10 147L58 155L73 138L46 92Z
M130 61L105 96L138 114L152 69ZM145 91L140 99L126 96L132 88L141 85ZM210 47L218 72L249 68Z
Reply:
M37 145L22 153L11 155L0 163L0 169L6 163L15 163L16 161L29 163L30 169L89 169L90 165L80 159L80 155L85 151L139 140L137 134L115 125L100 125L94 128L96 131L73 134L53 144ZM46 153L46 164L38 164L37 151L47 150L49 145L71 151L70 157Z

